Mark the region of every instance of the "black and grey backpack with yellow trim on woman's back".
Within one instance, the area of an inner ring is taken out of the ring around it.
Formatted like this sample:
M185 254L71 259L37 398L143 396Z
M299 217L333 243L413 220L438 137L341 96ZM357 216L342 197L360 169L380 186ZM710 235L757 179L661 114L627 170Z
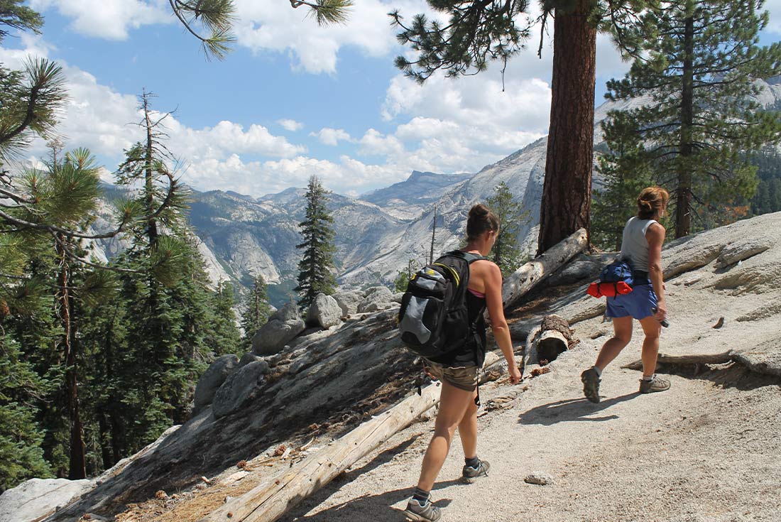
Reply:
M444 356L472 338L466 307L469 265L476 254L448 252L412 276L398 311L401 341L426 359Z

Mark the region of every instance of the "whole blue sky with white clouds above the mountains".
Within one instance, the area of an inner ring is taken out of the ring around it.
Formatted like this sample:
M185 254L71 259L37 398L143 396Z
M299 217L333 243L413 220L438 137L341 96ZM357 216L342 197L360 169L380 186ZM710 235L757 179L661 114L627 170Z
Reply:
M70 102L60 131L66 148L90 148L109 172L139 138L136 95L177 109L169 148L198 190L260 196L305 186L358 195L412 170L477 172L547 134L551 42L539 34L511 63L504 92L497 66L476 77L437 75L419 86L393 66L405 52L387 12L426 12L420 0L358 0L344 26L318 27L287 0L236 0L237 44L207 61L166 0L30 0L45 16L40 36L6 38L0 63L27 55L64 66ZM776 6L776 4L778 4ZM781 0L766 5L781 29ZM597 42L597 102L623 63L608 38ZM27 160L45 156L37 142Z

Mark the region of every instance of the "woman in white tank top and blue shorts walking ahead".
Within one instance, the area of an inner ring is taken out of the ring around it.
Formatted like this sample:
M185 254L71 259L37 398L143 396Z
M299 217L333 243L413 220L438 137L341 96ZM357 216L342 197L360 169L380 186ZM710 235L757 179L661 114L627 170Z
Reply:
M665 216L669 199L664 188L644 188L637 197L637 216L629 219L624 227L619 259L629 263L632 269L632 288L629 293L616 292L616 295L607 298L605 316L613 320L613 337L602 346L594 366L580 375L583 395L591 402L600 400L602 370L632 339L633 319L640 321L645 334L640 393L664 392L670 388L670 381L654 373L659 335L662 325L666 325L667 316L662 277L662 244L666 231L658 220Z

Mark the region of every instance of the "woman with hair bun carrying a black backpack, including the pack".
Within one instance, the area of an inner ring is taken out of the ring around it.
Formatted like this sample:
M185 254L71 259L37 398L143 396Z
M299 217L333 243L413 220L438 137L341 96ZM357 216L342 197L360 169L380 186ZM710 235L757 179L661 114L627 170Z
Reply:
M477 387L486 354L485 309L494 338L507 359L510 382L518 384L521 379L502 307L501 270L485 257L498 233L497 217L484 205L473 206L466 223L465 248L444 254L415 274L402 299L401 339L423 356L426 373L442 383L433 437L404 511L410 520L440 520L440 508L431 502L430 492L456 428L465 457L462 481L471 483L486 477L490 469L477 456Z

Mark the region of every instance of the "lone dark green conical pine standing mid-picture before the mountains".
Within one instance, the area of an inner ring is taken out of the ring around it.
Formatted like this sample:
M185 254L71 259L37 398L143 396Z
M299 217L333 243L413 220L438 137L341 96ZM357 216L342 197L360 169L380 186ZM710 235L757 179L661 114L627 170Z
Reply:
M304 241L303 256L298 263L298 286L295 291L301 295L298 306L311 305L318 294L333 294L336 281L333 278L333 217L327 208L330 191L323 188L316 176L309 178L306 191L306 216L298 226Z

